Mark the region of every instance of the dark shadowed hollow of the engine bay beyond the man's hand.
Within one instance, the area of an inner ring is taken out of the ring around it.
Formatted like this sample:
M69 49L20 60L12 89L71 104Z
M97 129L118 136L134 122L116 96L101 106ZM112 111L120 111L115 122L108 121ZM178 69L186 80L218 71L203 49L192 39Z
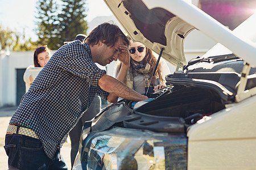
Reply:
M187 118L193 114L208 116L225 108L218 94L205 88L168 86L161 91L155 100L142 105L136 112Z

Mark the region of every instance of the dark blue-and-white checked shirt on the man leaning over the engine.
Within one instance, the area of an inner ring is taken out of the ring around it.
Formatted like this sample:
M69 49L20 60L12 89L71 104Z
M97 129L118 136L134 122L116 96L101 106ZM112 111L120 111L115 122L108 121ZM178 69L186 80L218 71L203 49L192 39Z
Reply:
M63 45L36 76L10 124L32 129L52 159L94 96L108 97L98 86L104 73L88 44L76 40Z

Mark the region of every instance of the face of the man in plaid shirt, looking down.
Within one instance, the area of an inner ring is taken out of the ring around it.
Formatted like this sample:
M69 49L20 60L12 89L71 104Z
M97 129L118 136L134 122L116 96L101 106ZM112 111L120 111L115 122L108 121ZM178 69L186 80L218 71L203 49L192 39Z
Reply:
M118 41L115 42L114 46L107 46L106 44L100 42L100 46L97 50L96 62L102 66L106 66L113 60L117 61L118 54L121 54L119 44L123 44L122 37L118 38Z

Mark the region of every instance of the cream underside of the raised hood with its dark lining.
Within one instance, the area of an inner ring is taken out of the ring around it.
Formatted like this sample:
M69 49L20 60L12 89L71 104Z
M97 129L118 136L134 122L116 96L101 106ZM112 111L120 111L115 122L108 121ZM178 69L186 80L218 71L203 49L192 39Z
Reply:
M158 54L164 48L162 57L175 66L187 63L184 41L195 27L168 10L150 9L141 0L122 1L119 7L119 0L105 2L133 40L142 42Z

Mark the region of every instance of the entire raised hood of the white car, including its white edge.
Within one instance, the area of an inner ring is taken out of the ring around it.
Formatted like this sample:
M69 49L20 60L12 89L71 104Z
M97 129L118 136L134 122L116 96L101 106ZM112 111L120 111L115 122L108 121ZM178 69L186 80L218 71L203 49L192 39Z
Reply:
M237 37L230 29L185 1L104 0L127 34L173 65L187 63L184 40L193 29L199 29L233 53L256 65L253 42ZM243 46L244 48L241 48Z

